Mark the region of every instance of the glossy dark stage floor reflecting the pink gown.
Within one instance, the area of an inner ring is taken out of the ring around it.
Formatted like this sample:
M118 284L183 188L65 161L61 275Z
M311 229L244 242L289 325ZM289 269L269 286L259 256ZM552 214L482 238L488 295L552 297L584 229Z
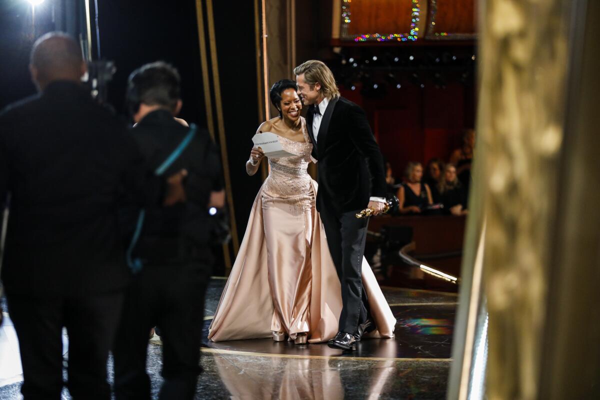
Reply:
M211 280L205 337L224 284L224 279ZM271 339L205 341L197 398L445 398L456 294L398 288L383 288L383 293L397 318L395 338L364 339L350 353L325 344L298 346ZM160 339L155 336L148 356L155 395L161 383L161 357ZM0 329L0 399L21 398L19 363L9 319Z

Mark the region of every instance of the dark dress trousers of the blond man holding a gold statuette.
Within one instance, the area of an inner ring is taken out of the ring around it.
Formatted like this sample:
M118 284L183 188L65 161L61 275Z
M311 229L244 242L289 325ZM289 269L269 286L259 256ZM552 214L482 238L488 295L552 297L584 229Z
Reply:
M352 212L320 211L331 258L341 284L340 332L356 333L358 324L370 318L367 294L362 286L362 257L365 252L368 219Z

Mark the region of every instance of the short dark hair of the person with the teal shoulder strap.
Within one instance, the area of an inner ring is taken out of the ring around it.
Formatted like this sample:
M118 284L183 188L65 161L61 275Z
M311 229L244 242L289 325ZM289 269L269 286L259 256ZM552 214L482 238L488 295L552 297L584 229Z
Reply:
M175 111L181 99L179 72L164 61L145 64L133 71L127 82L127 103L132 114L140 104L161 106Z

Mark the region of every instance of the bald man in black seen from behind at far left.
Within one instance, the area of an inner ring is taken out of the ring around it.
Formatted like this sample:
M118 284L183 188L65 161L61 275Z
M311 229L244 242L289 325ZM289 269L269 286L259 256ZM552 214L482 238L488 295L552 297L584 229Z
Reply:
M106 362L128 277L118 199L128 191L161 203L164 182L146 174L125 126L80 84L86 64L76 41L44 35L30 70L40 94L0 114L0 203L11 194L2 279L21 392L61 398L66 327L71 396L110 399Z

